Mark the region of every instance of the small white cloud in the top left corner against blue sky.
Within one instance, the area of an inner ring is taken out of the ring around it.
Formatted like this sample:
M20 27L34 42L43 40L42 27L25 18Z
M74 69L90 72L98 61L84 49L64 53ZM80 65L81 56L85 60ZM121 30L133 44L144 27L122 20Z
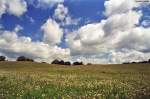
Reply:
M0 17L5 14L21 16L27 11L27 3L24 0L0 0Z

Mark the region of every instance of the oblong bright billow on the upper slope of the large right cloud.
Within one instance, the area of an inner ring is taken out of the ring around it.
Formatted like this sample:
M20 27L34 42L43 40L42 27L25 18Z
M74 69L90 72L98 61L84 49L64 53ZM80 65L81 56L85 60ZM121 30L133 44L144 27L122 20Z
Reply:
M128 11L126 13L115 14L106 20L104 30L106 33L114 31L125 31L135 27L142 16L141 12Z

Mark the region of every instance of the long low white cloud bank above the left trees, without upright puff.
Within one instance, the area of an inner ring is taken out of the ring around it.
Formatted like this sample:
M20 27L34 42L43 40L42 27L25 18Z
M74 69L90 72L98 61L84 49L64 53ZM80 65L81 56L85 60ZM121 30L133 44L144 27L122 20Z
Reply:
M0 54L11 59L24 55L40 61L51 62L53 59L67 60L70 51L45 42L33 42L30 37L19 37L14 29L14 31L0 31Z

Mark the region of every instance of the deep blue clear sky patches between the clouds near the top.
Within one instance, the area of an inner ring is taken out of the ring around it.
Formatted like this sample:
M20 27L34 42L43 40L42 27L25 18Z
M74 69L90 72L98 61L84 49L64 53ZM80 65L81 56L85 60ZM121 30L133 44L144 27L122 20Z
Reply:
M102 14L104 11L103 0L66 0L63 4L68 7L69 14L74 19L81 18L78 25L65 26L67 29L77 29L87 24L87 21L89 21L89 23L98 22L104 18ZM20 31L21 33L19 33L19 35L29 36L33 41L41 40L42 33L40 27L49 17L53 16L56 6L57 5L49 8L36 8L30 4L28 5L27 12L21 17L16 17L8 13L4 14L0 20L0 24L2 24L6 30L13 30L14 27L19 24L24 28ZM33 23L30 22L30 18L34 20Z

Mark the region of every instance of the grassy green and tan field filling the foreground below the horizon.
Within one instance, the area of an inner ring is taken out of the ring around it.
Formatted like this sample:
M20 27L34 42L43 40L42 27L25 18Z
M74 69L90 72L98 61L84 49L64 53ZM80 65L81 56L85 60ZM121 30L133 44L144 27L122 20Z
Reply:
M150 65L0 62L0 99L150 99Z

